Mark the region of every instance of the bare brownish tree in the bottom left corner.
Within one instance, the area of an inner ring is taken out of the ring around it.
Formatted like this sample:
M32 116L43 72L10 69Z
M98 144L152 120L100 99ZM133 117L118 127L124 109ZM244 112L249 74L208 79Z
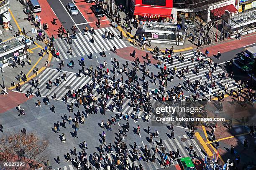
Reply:
M40 139L35 133L7 133L0 138L0 162L25 163L25 167L12 168L15 170L38 168L47 160L48 145L48 140Z

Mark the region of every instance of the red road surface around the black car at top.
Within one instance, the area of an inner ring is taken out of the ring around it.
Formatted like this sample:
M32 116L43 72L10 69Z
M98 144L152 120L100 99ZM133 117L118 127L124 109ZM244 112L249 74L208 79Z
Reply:
M76 3L78 9L81 11L82 15L84 15L84 18L87 20L89 25L97 29L95 21L98 21L98 18L94 15L94 13L92 13L90 8L92 5L95 5L95 2L86 3L84 0L76 0L74 2ZM106 16L100 18L100 28L109 27L109 24L110 22Z

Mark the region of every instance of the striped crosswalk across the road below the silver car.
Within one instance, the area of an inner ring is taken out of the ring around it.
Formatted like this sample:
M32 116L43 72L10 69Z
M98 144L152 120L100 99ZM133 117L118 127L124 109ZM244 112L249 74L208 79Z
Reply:
M114 33L115 37L113 38L113 40L105 40L103 38L105 31L110 31L111 33ZM90 42L92 36L95 40L94 43ZM113 27L97 29L95 30L95 35L92 35L90 32L88 32L87 35L84 35L83 33L78 33L76 37L77 39L74 39L72 41L72 44L70 45L67 44L66 40L64 39L58 38L55 40L54 46L56 50L60 52L60 59L55 58L57 61L65 59L67 60L73 57L90 55L90 52L92 54L99 53L102 52L103 48L106 51L112 50L114 46L117 49L127 47L123 39L119 38L118 33ZM72 48L72 55L69 55L67 53L70 47Z

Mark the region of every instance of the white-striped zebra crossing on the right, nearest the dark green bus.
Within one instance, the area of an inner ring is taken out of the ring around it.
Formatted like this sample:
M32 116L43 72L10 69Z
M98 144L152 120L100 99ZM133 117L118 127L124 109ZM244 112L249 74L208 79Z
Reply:
M190 58L192 56L197 57L196 52L190 51L190 52L184 53L182 55L184 55L184 58L185 58L184 63L178 60L178 55L177 54L172 54L172 56L173 56L173 64L172 65L168 61L164 61L163 55L159 56L159 60L161 60L162 64L165 64L166 67L168 67L170 70L173 69L176 66L177 67L177 72L181 71L182 68L185 69L188 66L189 67L189 73L185 73L185 80L187 80L189 78L189 80L191 82L195 82L196 80L200 80L200 78L202 77L202 83L205 82L205 81L208 82L207 75L208 75L209 72L208 72L207 67L201 68L199 70L199 75L198 76L194 73L195 72L195 67L198 64L198 62L196 60L194 62L192 62L190 60ZM201 55L204 56L203 53L201 53ZM207 61L208 58L203 57L203 60ZM213 65L214 65L214 62L212 62L211 67L213 67ZM216 95L218 90L224 90L224 85L227 82L229 84L228 89L231 89L231 88L235 89L237 87L236 81L231 79L231 78L223 80L223 86L221 86L220 85L220 80L218 79L218 73L219 72L222 73L222 72L224 72L224 70L221 67L219 67L219 65L217 65L216 71L213 73L213 76L212 76L213 80L215 80L216 83L217 83L217 88L212 89L212 94L213 95ZM210 83L208 83L207 91L202 91L201 89L199 89L198 91L199 91L200 95L205 96L205 97L209 97L210 96L209 95L209 88L210 88Z

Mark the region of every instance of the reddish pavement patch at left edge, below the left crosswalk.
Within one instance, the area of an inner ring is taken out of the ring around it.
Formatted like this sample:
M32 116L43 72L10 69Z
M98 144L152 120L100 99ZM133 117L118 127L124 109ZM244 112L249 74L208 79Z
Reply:
M30 98L33 97L32 95ZM23 93L19 92L9 92L9 95L0 94L0 113L6 112L13 107L17 107L18 104L22 104L29 100Z

